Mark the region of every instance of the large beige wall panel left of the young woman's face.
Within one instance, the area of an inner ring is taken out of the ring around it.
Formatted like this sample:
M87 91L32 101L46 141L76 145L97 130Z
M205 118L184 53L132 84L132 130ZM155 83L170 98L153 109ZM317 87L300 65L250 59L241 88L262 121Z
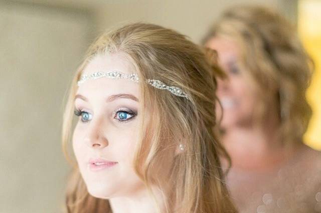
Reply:
M61 212L62 100L88 43L85 13L0 1L0 212Z

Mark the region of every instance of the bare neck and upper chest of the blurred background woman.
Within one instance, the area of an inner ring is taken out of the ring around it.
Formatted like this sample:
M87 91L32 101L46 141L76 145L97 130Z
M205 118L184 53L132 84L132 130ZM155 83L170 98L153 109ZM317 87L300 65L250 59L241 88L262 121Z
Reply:
M232 126L226 129L223 141L237 169L266 171L275 169L293 155L280 140L277 119L262 125Z

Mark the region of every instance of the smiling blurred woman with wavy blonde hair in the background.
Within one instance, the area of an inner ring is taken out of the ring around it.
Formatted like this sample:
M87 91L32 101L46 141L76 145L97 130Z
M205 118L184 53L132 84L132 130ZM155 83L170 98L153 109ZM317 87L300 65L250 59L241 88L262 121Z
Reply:
M321 156L302 140L312 64L294 27L270 9L241 6L203 42L218 51L227 75L217 95L232 158L228 186L240 212L319 212Z

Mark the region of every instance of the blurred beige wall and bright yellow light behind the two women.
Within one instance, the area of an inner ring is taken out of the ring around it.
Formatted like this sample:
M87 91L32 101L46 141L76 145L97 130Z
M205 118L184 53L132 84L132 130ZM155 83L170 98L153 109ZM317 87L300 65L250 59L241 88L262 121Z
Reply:
M316 71L305 142L321 149L321 0L0 0L0 213L61 212L70 166L61 151L63 99L88 45L134 21L199 43L227 7L263 4L297 24Z

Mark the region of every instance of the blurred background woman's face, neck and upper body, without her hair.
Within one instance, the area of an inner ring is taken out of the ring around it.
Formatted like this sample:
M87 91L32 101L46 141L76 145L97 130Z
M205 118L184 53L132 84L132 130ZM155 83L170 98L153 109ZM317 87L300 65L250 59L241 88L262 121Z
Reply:
M292 148L283 145L275 104L269 105L262 125L256 124L253 111L259 97L247 70L239 65L241 52L235 40L214 37L207 46L218 51L228 75L218 80L217 95L224 114L222 139L232 158L228 186L240 212L319 212L320 153L302 141L295 141Z

